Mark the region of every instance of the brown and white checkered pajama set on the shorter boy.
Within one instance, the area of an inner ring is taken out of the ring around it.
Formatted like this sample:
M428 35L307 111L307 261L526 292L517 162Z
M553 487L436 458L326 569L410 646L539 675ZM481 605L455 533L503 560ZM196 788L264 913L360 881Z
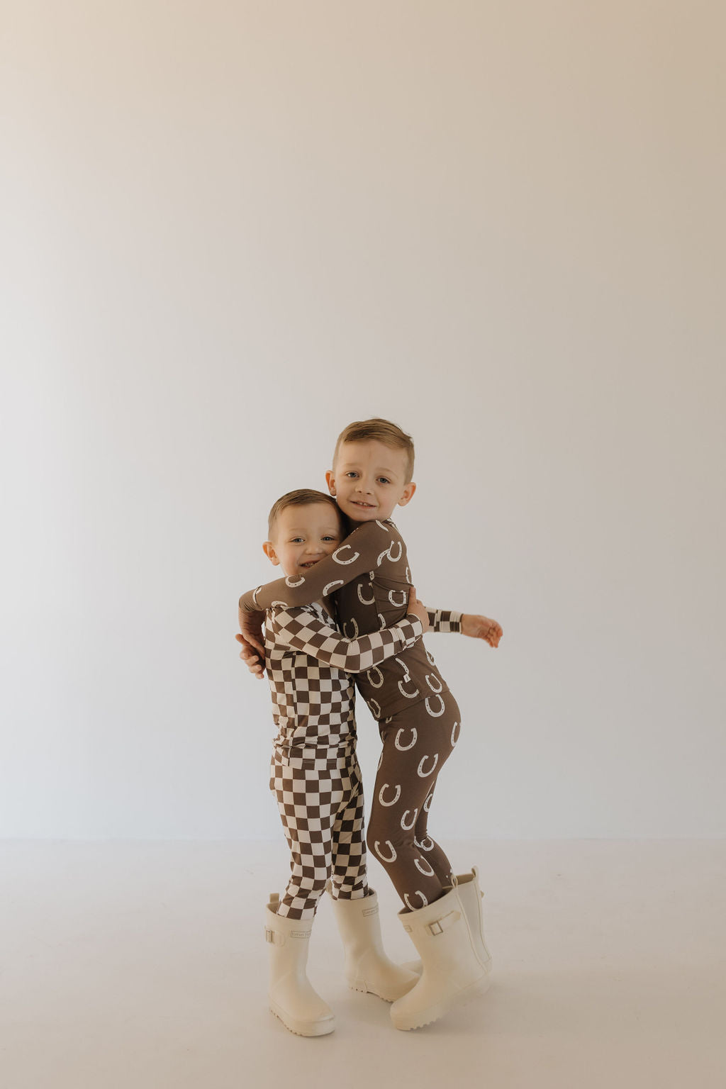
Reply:
M355 755L355 688L348 671L411 646L416 617L360 639L345 639L313 603L270 610L267 674L278 736L270 790L291 852L291 878L280 915L312 918L325 882L334 898L366 895L366 841L360 769Z

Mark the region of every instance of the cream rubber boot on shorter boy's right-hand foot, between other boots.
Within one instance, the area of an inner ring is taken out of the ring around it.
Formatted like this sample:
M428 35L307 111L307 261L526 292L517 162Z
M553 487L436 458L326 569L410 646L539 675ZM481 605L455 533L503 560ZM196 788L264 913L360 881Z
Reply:
M345 978L353 991L394 1002L418 983L415 972L394 964L383 951L378 896L372 890L359 900L333 900L333 915L345 950Z

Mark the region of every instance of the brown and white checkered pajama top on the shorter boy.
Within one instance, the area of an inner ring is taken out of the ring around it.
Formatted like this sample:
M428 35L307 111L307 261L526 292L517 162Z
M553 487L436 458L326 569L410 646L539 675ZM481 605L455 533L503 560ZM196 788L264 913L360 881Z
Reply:
M317 602L267 614L267 675L278 726L275 757L283 763L335 759L355 749L352 673L403 653L422 635L418 616L346 639Z

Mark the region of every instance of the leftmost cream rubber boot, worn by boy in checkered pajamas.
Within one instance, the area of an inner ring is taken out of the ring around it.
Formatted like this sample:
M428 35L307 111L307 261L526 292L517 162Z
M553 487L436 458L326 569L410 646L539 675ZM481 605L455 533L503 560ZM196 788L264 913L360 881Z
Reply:
M278 915L279 903L278 894L270 893L264 913L264 938L270 944L270 1010L297 1036L325 1036L335 1028L335 1018L305 971L312 919Z

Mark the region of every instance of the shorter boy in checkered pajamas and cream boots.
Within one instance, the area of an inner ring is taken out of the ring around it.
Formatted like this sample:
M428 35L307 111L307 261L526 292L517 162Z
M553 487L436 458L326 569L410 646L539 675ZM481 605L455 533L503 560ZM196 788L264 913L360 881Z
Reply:
M299 586L340 547L341 512L319 491L288 492L269 517L266 555L280 564L286 587ZM346 639L336 629L325 590L303 607L272 601L267 612L266 660L278 726L270 766L291 849L291 878L282 900L266 909L270 942L270 1008L293 1032L322 1036L333 1015L305 975L307 944L327 882L346 947L346 975L356 990L393 1001L417 976L383 953L378 900L368 888L364 796L356 758L352 672L376 669L411 647L428 626L415 592L406 615L385 631Z

